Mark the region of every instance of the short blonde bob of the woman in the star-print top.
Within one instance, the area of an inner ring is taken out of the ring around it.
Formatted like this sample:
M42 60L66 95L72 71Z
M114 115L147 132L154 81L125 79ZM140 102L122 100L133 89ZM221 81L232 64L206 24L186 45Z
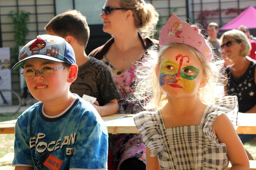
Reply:
M244 32L237 29L226 31L220 37L220 44L223 44L224 39L227 39L227 37L232 37L238 42L243 43L243 49L240 51L240 55L245 57L249 54L252 49L252 45Z

